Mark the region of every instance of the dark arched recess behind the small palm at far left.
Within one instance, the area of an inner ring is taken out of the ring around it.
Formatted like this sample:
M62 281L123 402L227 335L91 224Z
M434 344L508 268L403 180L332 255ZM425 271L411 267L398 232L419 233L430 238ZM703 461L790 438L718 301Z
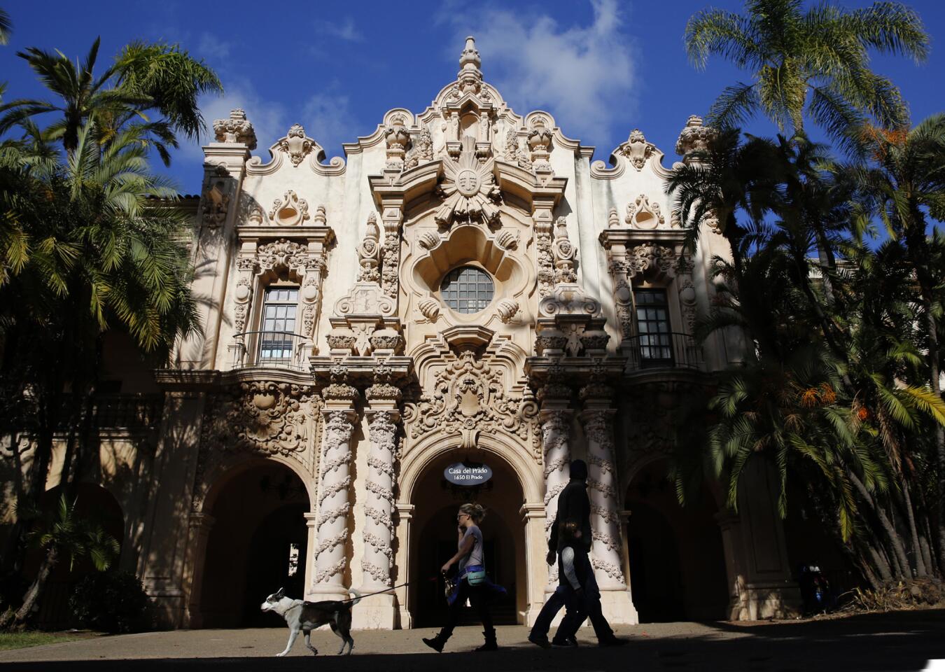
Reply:
M40 508L55 513L58 510L62 488L56 486L43 492ZM125 514L118 500L100 485L95 483L77 483L75 491L69 496L75 502L73 516L77 521L84 521L100 526L105 532L122 544L119 557L112 560L112 566L121 563L121 553L125 552ZM44 551L30 548L26 554L22 576L28 580L36 577ZM82 578L95 572L92 560L79 558L76 564L69 566L68 558L60 558L52 569L40 600L40 612L35 619L37 626L43 629L64 629L71 626L69 613L69 595Z

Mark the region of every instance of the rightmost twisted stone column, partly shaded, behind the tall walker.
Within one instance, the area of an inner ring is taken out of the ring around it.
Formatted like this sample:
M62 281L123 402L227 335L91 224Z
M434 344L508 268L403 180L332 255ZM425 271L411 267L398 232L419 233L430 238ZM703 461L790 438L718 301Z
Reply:
M621 558L617 470L613 453L613 389L603 382L603 367L592 367L591 381L581 388L580 418L588 449L588 494L591 498L593 545L591 562L601 591L601 605L610 623L639 622L630 598Z

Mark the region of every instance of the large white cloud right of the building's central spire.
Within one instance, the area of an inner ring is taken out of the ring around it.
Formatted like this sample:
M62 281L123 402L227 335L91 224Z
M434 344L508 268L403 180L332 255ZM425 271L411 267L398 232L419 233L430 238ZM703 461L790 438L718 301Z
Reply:
M551 112L565 135L585 142L610 136L610 126L634 111L637 83L631 39L622 31L616 0L591 0L589 26L559 26L548 14L485 9L476 17L447 3L442 21L455 26L455 44L473 35L485 78L517 112ZM458 54L458 47L455 49Z

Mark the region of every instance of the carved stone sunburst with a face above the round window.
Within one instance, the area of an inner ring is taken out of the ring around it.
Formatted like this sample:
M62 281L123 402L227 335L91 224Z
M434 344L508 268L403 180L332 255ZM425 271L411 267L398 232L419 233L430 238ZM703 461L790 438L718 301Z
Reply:
M501 198L492 176L492 161L480 164L475 157L475 140L463 139L463 150L456 162L443 162L443 181L439 185L443 204L434 218L443 228L454 221L498 221Z

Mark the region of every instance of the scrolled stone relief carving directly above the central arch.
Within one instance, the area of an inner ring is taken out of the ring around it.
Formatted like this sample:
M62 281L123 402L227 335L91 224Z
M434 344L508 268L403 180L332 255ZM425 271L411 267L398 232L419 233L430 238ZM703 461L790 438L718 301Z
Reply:
M528 423L538 408L533 399L506 393L503 370L489 359L477 360L471 351L459 353L438 372L433 389L417 405L410 436L429 432L459 434L460 447L470 450L480 432L504 431L520 439L528 437Z

